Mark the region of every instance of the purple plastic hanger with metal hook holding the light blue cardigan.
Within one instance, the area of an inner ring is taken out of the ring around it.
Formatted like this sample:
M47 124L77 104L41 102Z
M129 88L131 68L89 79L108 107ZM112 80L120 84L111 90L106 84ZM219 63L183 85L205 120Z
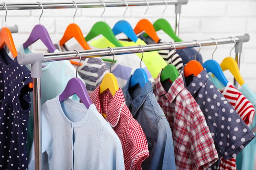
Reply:
M79 55L80 63L81 63L80 53L77 50L74 50L74 51L76 51L76 56ZM77 78L78 68L79 68L79 65L76 68L76 78L72 78L67 82L67 86L64 89L64 91L62 92L62 94L59 95L59 99L60 99L60 102L62 102L63 100L76 94L79 97L79 99L81 99L81 102L83 102L85 107L88 109L90 107L90 105L92 104L92 102L87 93L84 82L82 82L81 79Z

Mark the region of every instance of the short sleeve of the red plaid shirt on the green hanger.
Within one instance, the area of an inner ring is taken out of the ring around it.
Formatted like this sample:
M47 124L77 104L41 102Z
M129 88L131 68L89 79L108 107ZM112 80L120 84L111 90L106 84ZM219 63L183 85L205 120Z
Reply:
M192 160L199 170L204 170L218 160L218 153L201 111L195 112L190 130Z

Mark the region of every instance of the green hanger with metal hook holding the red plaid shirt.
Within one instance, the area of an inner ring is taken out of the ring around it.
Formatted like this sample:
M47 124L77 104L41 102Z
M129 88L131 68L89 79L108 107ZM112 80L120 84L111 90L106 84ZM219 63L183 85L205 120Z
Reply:
M172 54L172 57L173 57L173 55L176 53L176 47L175 47L174 43L172 43L172 45L174 46L174 51L175 51ZM172 57L171 57L171 64L168 64L165 66L165 68L163 68L163 71L162 71L161 77L160 77L161 82L163 82L167 79L170 79L172 82L174 82L175 79L177 79L177 77L179 77L179 72L177 71L177 68L175 67L175 65L172 65Z

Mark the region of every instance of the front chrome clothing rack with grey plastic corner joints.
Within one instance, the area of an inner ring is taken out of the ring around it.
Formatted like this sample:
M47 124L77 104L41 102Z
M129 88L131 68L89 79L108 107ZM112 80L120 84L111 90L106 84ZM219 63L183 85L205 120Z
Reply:
M234 38L220 38L215 40L201 40L201 46L215 45L216 42L220 44L229 44L236 42L236 60L240 64L240 57L242 52L242 43L250 40L249 34L244 34L243 36L237 36ZM152 44L152 45L142 45L140 46L130 46L130 47L117 47L110 51L109 48L105 49L92 49L79 51L81 58L89 57L102 57L111 56L113 53L115 55L120 54L131 54L131 53L141 53L147 51L158 51L158 50L168 50L174 48L191 48L197 47L200 44L197 41L186 41L186 42L175 42L175 43L163 43L163 44ZM18 53L17 60L20 65L31 64L31 77L33 77L33 95L34 95L34 122L35 122L35 170L41 170L41 74L42 74L42 63L43 62L54 62L59 60L67 59L80 59L76 51L67 51L60 53L34 53L34 54L21 54Z

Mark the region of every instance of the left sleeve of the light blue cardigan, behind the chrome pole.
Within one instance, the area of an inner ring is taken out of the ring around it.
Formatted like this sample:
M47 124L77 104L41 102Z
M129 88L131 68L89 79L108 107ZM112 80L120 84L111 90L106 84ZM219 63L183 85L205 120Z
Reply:
M47 147L49 147L50 141L52 139L52 133L50 130L49 120L47 120L47 113L48 109L46 105L42 106L42 170L48 170L48 156L47 156ZM29 170L35 170L35 141L32 143L31 151L29 154Z

